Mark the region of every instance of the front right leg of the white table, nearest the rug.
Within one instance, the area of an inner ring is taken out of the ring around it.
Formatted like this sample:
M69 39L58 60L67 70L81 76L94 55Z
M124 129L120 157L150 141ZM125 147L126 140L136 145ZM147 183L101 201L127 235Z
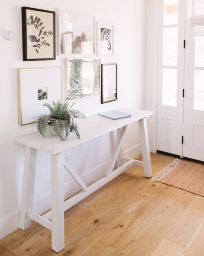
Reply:
M144 176L150 178L152 177L152 166L151 166L146 118L139 120L139 127L140 127L140 138L141 138L141 145L142 145L142 158L144 163Z

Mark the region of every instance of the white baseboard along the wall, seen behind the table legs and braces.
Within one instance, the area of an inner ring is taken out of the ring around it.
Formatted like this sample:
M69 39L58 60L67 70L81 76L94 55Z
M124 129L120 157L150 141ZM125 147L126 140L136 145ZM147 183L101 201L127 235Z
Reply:
M124 156L129 158L134 158L135 156L138 156L139 154L141 154L141 152L142 152L141 144L137 144L131 149L126 150L124 152ZM108 166L109 166L109 161L101 165L98 165L96 168L93 168L89 172L82 174L81 177L85 182L85 184L89 185L94 181L97 181L98 179L103 177L106 174L106 170ZM71 197L72 195L74 195L80 190L81 190L80 187L74 180L69 181L67 184L64 185L65 198ZM50 208L51 208L51 193L48 193L47 195L44 195L43 197L33 202L33 211L35 213L42 214L48 211ZM4 238L5 236L9 235L10 233L18 229L19 217L20 217L20 210L0 220L0 239Z

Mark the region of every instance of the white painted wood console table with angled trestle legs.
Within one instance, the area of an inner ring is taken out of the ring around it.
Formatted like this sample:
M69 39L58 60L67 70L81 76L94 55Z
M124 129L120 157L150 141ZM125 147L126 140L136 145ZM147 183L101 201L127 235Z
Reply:
M146 118L152 115L153 112L125 108L119 108L117 110L129 113L132 117L111 120L99 115L94 115L84 120L78 120L77 123L81 136L80 140L72 135L69 136L66 141L61 141L58 136L51 134L48 134L47 137L44 138L38 131L15 138L17 143L26 146L19 227L22 230L28 229L31 226L31 220L34 220L47 229L50 229L52 232L52 249L56 252L64 249L64 211L134 164L144 166L145 177L150 178L152 176ZM139 121L143 162L122 157L121 155L121 144L127 126L135 121ZM69 148L113 130L117 130L117 143L106 176L90 186L86 186L80 176L64 159L63 153ZM51 154L51 211L42 216L32 211L37 150ZM122 161L126 163L121 165ZM116 169L113 170L115 163ZM64 201L64 168L82 188L82 191L66 201Z

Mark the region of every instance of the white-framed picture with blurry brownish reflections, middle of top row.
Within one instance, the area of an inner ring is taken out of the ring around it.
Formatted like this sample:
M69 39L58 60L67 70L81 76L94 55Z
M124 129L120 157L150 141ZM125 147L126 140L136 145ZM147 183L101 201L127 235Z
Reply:
M58 10L59 54L68 57L95 56L95 17L67 10Z

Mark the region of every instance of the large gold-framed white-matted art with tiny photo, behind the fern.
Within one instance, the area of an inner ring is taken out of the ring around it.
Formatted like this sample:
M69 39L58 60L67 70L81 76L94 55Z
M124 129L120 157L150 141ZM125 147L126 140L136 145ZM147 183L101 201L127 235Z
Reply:
M35 123L38 116L49 115L45 103L62 100L62 67L17 68L18 124Z

